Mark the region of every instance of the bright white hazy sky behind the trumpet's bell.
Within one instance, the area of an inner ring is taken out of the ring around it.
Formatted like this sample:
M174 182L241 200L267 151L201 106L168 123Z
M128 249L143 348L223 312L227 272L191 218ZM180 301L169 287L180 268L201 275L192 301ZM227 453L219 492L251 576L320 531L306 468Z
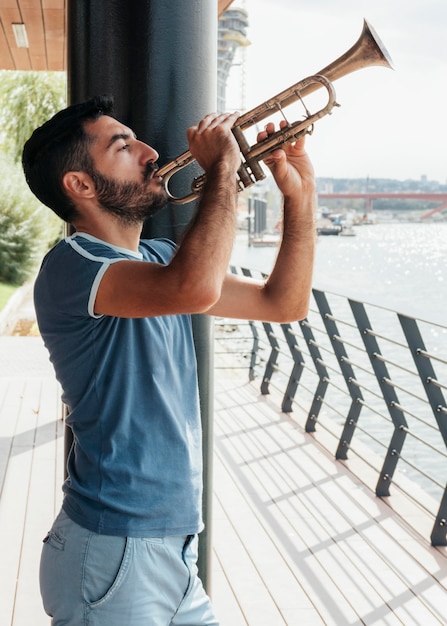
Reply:
M447 0L235 0L232 6L248 13L250 45L231 70L228 110L250 110L318 73L351 48L366 18L394 70L366 67L334 81L341 106L307 138L316 175L447 182ZM301 115L293 107L284 113L291 122Z

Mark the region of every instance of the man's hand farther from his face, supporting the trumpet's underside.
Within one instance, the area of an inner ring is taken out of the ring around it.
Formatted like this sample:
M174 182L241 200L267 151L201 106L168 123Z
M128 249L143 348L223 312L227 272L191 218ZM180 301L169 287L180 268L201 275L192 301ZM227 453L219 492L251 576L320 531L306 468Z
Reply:
M287 122L281 122L284 127ZM258 134L258 141L266 139L275 131L274 124L269 122L265 130ZM285 197L301 193L306 186L314 185L314 169L304 148L304 136L293 143L284 144L271 152L264 163L270 169L278 188Z

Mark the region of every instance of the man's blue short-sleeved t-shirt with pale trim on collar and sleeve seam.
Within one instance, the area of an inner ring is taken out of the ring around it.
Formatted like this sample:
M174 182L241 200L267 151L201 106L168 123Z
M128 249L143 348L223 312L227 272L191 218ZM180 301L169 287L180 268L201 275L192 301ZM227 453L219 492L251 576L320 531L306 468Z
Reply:
M174 250L158 239L141 241L135 253L76 233L46 255L36 279L37 321L74 435L63 508L94 532L156 537L202 529L190 317L94 312L111 263L167 264Z

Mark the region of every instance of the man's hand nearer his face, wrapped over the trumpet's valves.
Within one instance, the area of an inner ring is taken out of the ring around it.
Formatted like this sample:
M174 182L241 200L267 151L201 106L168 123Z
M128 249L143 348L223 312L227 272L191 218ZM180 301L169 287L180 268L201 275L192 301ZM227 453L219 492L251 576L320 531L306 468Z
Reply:
M188 128L189 150L205 172L217 163L226 163L236 176L241 155L231 129L238 117L239 113L210 113Z

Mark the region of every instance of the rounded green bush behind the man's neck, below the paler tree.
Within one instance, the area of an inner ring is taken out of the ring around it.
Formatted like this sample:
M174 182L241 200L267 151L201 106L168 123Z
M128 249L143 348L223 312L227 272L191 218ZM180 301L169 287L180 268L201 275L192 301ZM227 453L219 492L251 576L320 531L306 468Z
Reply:
M21 167L0 157L0 281L22 284L62 233L62 222L26 185Z

